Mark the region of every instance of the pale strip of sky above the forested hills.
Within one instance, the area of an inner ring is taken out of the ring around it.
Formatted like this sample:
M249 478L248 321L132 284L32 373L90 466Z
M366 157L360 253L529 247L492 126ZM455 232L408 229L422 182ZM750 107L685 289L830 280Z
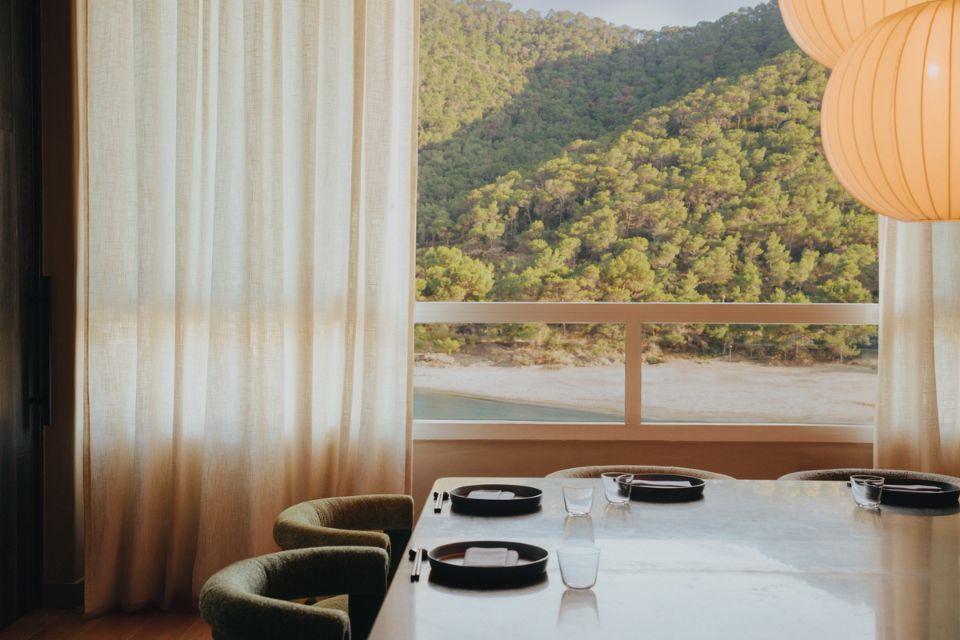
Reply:
M536 9L546 13L573 11L603 18L614 24L636 29L657 30L665 26L689 26L703 20L716 20L744 6L756 6L760 0L506 0L514 9Z

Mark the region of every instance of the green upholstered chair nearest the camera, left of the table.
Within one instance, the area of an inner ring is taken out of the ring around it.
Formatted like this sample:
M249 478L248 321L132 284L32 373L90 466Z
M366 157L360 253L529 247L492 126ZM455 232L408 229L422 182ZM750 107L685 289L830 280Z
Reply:
M388 563L383 549L355 546L241 560L207 580L200 615L215 640L366 638L387 590ZM348 593L349 615L291 602L315 593Z

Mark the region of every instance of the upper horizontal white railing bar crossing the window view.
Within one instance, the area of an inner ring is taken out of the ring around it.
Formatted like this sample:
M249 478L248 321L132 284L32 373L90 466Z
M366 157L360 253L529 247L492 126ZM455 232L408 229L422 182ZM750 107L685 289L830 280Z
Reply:
M744 302L417 302L424 324L599 323L873 325L876 304Z

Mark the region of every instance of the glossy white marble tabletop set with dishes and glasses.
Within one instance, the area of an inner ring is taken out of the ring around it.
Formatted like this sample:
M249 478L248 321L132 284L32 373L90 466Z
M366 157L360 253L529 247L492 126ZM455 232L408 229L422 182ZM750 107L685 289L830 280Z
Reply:
M371 638L960 638L960 514L858 509L843 482L708 480L683 504L605 504L599 480L443 478L434 490L502 482L543 490L511 517L434 514L412 544L507 540L547 549L547 579L498 591L420 582L402 564ZM596 487L589 518L569 518L561 482ZM600 572L568 590L555 551L593 538ZM406 550L404 550L406 556Z

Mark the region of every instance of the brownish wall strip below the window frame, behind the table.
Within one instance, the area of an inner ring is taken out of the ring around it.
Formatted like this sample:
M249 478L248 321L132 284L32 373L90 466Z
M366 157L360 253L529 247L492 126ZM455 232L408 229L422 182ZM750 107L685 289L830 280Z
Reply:
M677 465L764 479L802 469L870 467L872 462L871 444L418 440L413 444L413 495L419 510L437 478L534 477L594 464Z

